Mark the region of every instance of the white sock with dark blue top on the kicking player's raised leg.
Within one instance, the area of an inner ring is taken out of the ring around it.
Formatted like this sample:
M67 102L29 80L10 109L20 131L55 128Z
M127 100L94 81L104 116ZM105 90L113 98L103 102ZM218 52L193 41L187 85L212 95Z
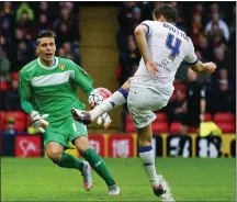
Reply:
M126 102L127 94L128 92L125 89L120 88L110 98L108 98L100 105L95 106L93 110L90 111L91 120L93 121L103 113L124 104Z

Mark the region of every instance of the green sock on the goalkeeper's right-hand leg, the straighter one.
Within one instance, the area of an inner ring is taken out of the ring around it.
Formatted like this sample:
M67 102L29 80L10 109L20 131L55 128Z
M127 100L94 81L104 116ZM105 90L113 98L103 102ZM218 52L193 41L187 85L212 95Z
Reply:
M114 180L109 172L103 159L93 149L89 148L81 154L97 173L105 181L108 186L114 184Z

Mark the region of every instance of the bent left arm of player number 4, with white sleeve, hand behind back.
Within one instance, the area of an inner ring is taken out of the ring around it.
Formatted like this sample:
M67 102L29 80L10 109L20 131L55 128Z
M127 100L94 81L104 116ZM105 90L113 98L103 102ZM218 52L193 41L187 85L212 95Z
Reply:
M150 58L149 58L147 40L146 40L146 36L149 34L149 32L150 32L149 25L147 25L146 23L142 23L135 29L134 35L135 35L137 47L144 59L144 64L147 70L149 71L149 75L154 76L156 75L158 69L157 69L156 64L150 61Z

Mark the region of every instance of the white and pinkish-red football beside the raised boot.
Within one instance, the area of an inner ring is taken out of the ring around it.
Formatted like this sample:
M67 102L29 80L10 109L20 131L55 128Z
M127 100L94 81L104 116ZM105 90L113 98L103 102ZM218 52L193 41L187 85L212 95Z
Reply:
M97 88L90 93L88 102L90 103L91 108L94 108L106 100L111 94L111 91L105 88Z

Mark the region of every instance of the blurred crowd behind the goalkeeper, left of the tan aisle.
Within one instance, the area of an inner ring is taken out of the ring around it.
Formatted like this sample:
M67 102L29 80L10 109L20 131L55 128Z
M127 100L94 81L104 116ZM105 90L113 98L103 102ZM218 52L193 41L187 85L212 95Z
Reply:
M36 37L54 30L57 55L80 65L78 8L75 2L2 2L1 32L1 110L21 110L18 94L19 70L36 58Z

